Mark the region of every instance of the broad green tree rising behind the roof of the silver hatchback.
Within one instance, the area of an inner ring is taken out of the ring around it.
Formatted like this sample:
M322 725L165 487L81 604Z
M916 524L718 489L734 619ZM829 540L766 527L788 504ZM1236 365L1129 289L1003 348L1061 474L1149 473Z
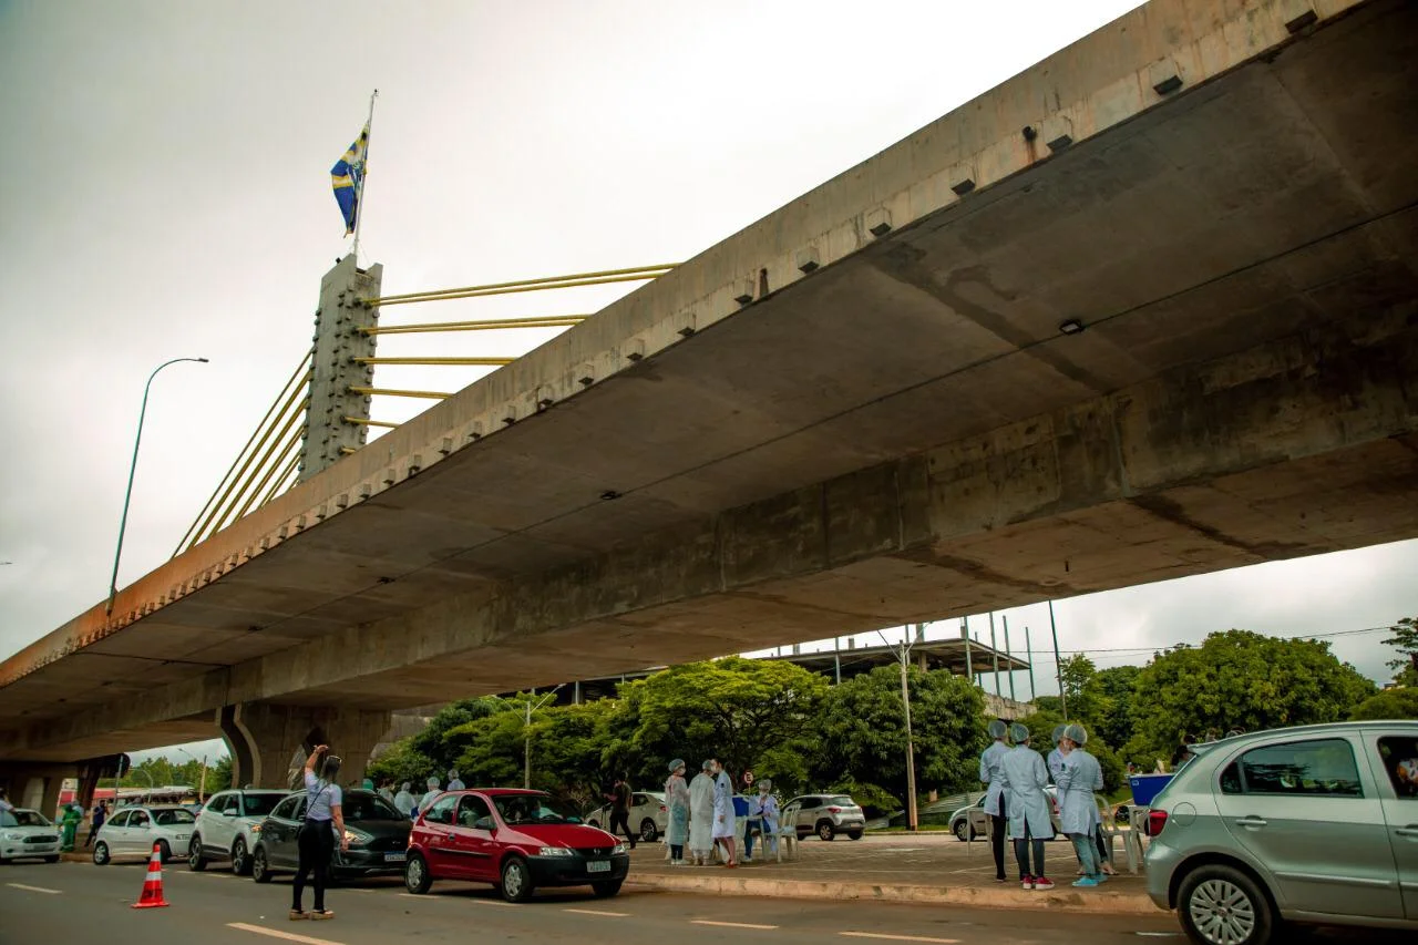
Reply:
M1374 692L1320 640L1282 640L1246 630L1212 633L1200 647L1157 654L1134 681L1130 761L1171 761L1183 739L1286 725L1334 722Z

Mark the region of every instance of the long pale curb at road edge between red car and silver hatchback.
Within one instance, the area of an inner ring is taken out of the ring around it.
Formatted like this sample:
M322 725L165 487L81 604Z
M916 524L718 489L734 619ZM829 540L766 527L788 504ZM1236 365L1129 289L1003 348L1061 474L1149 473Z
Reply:
M695 877L631 874L625 880L641 888L709 895L760 895L791 900L871 900L875 902L916 902L961 905L970 908L1051 910L1112 915L1163 915L1146 894L1081 892L1064 887L1052 892L1025 892L1008 888L939 885L876 885L871 883L813 883L808 880L753 880L740 877Z

